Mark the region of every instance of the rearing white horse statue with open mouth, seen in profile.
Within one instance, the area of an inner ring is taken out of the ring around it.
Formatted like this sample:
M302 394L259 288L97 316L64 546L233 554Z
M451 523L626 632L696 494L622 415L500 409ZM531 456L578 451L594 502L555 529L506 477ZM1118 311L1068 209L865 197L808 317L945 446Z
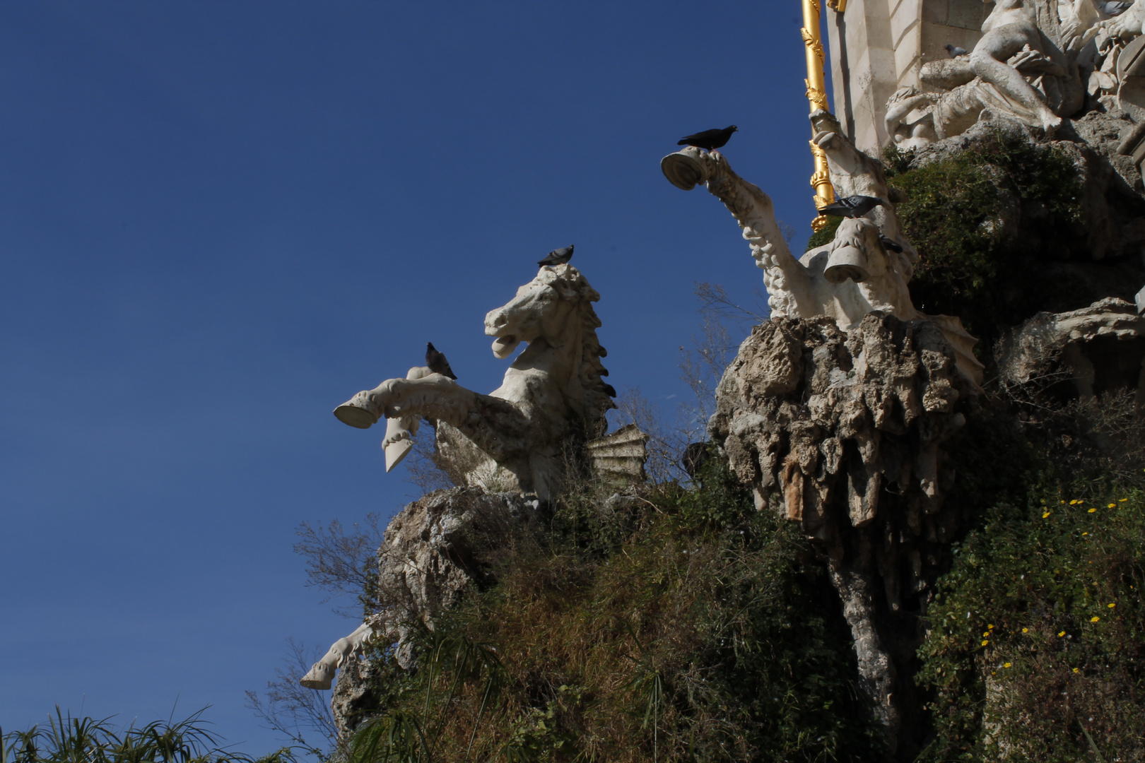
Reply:
M493 355L528 347L505 372L504 383L481 395L452 379L414 368L355 395L334 410L342 422L365 429L387 418L387 466L409 450L420 418L436 422L439 455L466 484L547 499L560 480L562 447L599 437L616 392L601 376L605 349L597 340L600 295L569 265L542 268L503 308L485 316ZM393 452L393 455L392 455Z

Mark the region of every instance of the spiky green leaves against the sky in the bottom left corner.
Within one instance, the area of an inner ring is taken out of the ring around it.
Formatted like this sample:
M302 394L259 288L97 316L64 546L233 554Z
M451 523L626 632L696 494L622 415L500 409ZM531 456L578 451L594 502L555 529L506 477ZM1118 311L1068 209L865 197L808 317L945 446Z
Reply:
M118 729L108 718L73 718L56 708L47 728L0 730L0 763L294 763L290 748L253 758L219 747L203 712L184 721Z

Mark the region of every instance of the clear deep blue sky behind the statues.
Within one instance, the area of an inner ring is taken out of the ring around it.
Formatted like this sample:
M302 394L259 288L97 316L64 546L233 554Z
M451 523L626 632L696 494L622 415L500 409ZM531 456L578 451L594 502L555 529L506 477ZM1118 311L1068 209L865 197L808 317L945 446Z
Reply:
M0 725L55 705L243 707L285 639L355 623L305 587L302 520L390 516L382 430L332 408L425 342L489 391L484 313L576 244L617 388L668 412L695 281L751 302L676 140L806 240L797 0L0 3Z

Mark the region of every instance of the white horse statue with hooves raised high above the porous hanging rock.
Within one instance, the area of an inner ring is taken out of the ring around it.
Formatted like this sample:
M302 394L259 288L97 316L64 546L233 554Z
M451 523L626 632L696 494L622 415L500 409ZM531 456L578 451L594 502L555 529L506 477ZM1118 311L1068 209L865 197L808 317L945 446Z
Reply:
M830 244L798 260L783 239L771 198L736 175L719 152L689 146L664 157L661 167L674 185L685 190L705 183L735 216L756 264L764 270L772 316L826 315L843 331L858 327L863 316L875 310L903 320L927 318L950 341L958 369L979 384L982 365L973 356L976 340L962 321L953 316L925 316L910 301L907 284L918 254L902 236L882 167L854 148L831 114L816 112L812 120L814 143L827 154L831 184L839 196L877 197L885 204L861 217L844 220ZM885 246L881 236L902 252Z

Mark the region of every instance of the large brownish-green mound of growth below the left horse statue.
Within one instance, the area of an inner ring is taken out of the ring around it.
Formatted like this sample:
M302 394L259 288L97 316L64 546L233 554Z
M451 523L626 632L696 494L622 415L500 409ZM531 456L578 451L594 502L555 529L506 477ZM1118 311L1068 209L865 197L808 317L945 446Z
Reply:
M499 585L423 635L416 674L379 655L356 758L881 760L850 630L795 526L718 462L694 491L590 504L560 501Z

